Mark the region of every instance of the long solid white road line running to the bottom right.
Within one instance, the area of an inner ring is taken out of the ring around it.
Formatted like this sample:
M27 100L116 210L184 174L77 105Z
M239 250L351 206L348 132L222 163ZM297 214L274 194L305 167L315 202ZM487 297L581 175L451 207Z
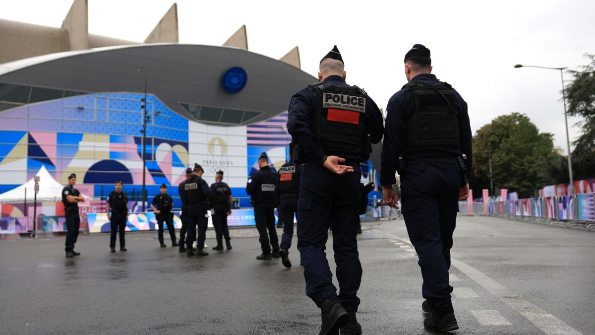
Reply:
M481 287L486 289L495 297L500 298L503 302L505 302L513 309L515 309L517 312L519 312L522 316L527 318L527 320L531 321L544 333L549 335L581 334L574 328L565 324L563 321L554 317L552 314L549 314L548 312L537 307L533 303L528 302L527 300L523 299L523 297L519 296L513 291L506 289L506 287L502 286L502 284L497 283L497 281L491 279L490 277L487 277L487 275L484 275L472 266L467 265L466 263L463 263L454 258L450 259L450 262L453 266L456 266L456 268L463 272L467 277L480 284Z

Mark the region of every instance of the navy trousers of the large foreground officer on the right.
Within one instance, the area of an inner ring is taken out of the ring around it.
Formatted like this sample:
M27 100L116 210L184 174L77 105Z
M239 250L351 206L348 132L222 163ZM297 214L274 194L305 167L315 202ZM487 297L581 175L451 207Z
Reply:
M422 296L433 302L450 302L450 248L462 175L455 163L418 162L408 165L400 176L403 218L419 256Z

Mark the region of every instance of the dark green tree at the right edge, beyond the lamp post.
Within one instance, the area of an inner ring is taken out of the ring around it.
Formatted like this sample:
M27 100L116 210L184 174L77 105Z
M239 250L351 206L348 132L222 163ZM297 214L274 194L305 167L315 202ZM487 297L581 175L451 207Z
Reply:
M581 135L574 141L572 151L575 180L595 176L595 55L585 54L585 57L590 64L582 66L579 71L568 71L573 79L565 91L568 114L583 117L578 122Z

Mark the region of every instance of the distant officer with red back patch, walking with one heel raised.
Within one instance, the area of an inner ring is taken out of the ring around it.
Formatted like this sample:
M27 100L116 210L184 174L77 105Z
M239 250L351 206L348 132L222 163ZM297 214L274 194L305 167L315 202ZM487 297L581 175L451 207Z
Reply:
M289 148L289 162L279 168L277 179L277 193L280 198L279 219L284 222L283 235L279 256L286 268L292 267L289 260L289 248L292 246L293 237L293 215L297 213L297 197L299 196L299 177L302 170L301 165L296 165L292 159L292 146Z

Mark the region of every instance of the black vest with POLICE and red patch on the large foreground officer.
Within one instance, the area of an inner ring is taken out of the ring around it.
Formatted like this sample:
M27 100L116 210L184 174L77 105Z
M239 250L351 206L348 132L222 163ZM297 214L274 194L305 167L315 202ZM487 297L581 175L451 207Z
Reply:
M368 95L358 86L320 83L311 87L318 94L312 130L322 150L327 154L349 153L368 159L372 151L366 113Z

